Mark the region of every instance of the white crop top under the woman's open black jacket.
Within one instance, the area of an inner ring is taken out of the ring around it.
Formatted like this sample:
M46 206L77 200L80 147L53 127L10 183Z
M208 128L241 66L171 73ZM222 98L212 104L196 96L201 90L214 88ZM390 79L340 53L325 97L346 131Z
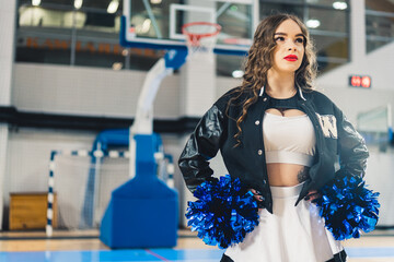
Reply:
M312 166L316 136L306 115L282 117L266 112L263 139L267 163Z

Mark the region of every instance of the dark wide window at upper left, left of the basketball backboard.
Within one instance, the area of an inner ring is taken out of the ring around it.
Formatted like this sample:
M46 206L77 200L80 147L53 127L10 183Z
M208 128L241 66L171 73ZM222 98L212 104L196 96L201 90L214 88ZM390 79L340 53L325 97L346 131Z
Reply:
M15 60L149 70L163 52L119 46L123 1L108 12L111 1L83 1L77 8L73 0L43 0L37 7L20 0Z

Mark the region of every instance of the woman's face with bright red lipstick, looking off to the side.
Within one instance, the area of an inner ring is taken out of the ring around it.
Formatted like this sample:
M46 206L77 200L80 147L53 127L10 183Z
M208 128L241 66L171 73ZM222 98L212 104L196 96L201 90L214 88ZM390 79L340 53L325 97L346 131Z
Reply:
M283 21L274 34L276 47L273 51L273 68L278 73L294 73L304 56L305 37L292 20Z

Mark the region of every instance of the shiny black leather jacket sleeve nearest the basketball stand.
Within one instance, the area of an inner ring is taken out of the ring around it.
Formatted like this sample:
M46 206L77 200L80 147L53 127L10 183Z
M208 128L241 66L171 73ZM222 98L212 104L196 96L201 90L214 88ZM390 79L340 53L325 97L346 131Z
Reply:
M209 159L215 157L220 148L223 122L223 112L213 105L198 122L179 156L178 165L192 192L213 174Z

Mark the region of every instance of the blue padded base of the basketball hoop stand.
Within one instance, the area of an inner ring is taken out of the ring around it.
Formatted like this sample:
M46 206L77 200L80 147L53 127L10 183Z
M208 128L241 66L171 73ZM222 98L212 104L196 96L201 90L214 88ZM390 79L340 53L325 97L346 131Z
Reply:
M136 177L112 192L100 239L109 248L176 246L177 192L155 174L153 135L136 135Z

